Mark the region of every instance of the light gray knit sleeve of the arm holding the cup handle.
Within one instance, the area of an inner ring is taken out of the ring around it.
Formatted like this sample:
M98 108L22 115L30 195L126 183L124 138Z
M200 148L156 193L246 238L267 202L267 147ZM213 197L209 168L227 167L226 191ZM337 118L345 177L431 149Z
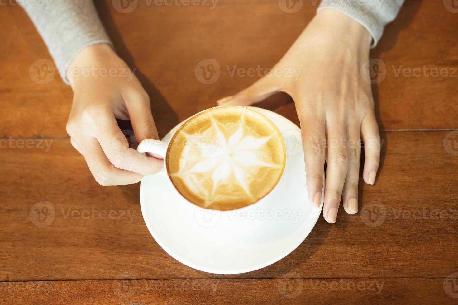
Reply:
M80 50L94 43L112 46L91 0L27 0L17 3L37 27L67 84L65 72Z

